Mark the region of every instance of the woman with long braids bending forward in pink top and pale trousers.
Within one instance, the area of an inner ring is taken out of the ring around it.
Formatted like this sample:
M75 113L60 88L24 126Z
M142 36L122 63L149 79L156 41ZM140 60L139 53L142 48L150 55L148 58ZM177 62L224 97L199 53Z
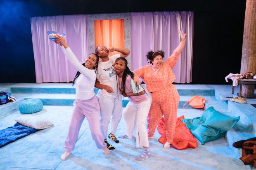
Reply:
M147 138L146 119L152 103L152 97L145 86L135 85L133 72L127 67L127 60L125 58L117 58L114 69L118 75L121 94L129 98L129 103L123 113L126 134L119 136L119 138L132 139L136 125L136 147L143 147L142 154L137 156L136 160L142 161L151 156L149 140Z

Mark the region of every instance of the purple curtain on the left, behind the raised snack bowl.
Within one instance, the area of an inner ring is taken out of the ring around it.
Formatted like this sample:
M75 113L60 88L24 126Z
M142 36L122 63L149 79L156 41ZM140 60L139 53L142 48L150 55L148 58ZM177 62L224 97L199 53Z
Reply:
M50 41L47 31L66 33L66 42L80 62L88 55L87 16L31 17L36 83L70 82L77 70L66 60L59 44Z

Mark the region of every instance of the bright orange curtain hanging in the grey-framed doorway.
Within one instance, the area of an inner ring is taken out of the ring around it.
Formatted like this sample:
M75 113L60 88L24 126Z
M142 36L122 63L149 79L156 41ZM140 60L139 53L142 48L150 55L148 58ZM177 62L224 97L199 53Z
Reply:
M113 46L124 48L124 21L115 20L95 20L94 21L95 48L98 45L104 45L107 48ZM112 52L109 56L118 54Z

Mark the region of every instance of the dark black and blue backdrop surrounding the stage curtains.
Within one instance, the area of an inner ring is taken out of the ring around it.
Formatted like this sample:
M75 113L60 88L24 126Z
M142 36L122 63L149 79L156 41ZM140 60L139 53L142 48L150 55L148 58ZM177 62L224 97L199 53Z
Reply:
M33 16L194 11L192 84L225 84L229 73L240 73L245 5L246 0L0 0L0 83L36 83Z

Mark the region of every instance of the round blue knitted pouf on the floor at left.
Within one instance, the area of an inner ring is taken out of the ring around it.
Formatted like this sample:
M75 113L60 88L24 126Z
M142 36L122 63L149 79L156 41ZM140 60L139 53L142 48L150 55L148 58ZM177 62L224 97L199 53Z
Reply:
M19 103L19 111L24 114L39 112L43 109L43 102L40 99L28 99Z

